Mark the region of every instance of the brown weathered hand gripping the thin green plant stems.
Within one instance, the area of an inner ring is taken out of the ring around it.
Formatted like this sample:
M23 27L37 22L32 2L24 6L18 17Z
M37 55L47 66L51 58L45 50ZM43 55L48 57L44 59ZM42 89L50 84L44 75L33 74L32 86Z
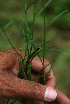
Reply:
M4 51L15 52L13 49ZM22 54L25 55L25 51ZM48 64L49 62L45 60L44 66ZM33 82L18 78L19 68L20 56L13 53L0 52L0 100L18 97L51 102L56 99L57 93L54 90L56 87L56 77L52 69L50 71L51 75L46 79L46 85L42 85L37 83L38 80ZM33 77L42 70L42 63L37 56L33 59L31 68L33 70ZM49 69L50 65L44 69L45 74Z

